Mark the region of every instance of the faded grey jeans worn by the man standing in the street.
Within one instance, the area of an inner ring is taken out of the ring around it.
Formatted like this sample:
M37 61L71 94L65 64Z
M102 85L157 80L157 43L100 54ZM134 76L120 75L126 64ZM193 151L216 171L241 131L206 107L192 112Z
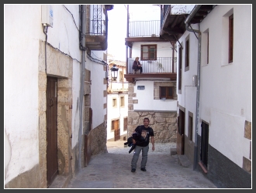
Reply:
M146 164L147 164L147 152L149 149L149 145L147 145L146 147L140 147L140 146L136 146L134 151L133 151L133 159L131 162L131 166L132 168L137 168L137 161L140 157L140 151L142 151L142 159L141 159L141 163L140 163L140 168L145 168Z

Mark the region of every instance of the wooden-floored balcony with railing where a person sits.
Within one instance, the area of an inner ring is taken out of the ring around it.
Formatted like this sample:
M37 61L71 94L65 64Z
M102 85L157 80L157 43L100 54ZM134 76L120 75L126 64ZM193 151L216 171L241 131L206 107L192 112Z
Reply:
M127 81L133 82L136 78L168 78L176 80L176 58L157 57L157 60L140 60L143 73L133 74L133 61L135 58L127 59L127 73L124 75Z

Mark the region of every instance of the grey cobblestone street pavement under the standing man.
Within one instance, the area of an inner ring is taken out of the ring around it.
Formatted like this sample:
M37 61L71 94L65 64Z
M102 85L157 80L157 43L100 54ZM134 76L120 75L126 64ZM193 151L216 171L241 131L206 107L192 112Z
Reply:
M88 166L71 179L67 188L216 188L192 165L183 168L178 164L177 155L171 155L170 148L175 143L155 144L155 151L147 157L147 171L140 171L140 158L137 170L132 173L130 162L133 151L125 147L126 141L108 141L108 153L91 157Z

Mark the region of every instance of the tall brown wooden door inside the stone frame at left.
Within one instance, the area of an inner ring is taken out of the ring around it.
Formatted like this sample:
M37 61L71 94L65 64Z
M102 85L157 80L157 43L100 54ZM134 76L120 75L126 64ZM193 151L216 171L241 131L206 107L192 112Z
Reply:
M47 186L57 176L57 78L47 77Z

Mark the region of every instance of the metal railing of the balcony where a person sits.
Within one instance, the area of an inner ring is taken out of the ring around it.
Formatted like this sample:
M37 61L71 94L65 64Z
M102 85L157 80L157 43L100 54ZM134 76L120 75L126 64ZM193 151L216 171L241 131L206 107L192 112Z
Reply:
M128 73L133 73L134 60L135 58L128 58ZM177 73L176 61L176 57L157 57L156 60L140 60L140 64L142 73Z

